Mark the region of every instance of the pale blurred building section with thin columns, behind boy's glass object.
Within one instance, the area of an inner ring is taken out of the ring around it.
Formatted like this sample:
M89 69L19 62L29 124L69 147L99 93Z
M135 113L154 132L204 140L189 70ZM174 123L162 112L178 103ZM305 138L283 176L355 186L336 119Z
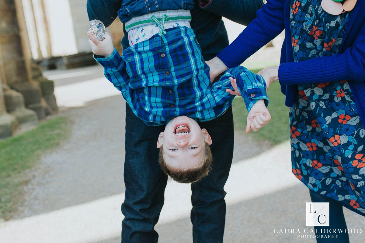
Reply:
M74 68L94 64L86 34L86 0L22 0L32 56L43 68ZM107 28L121 51L123 25Z

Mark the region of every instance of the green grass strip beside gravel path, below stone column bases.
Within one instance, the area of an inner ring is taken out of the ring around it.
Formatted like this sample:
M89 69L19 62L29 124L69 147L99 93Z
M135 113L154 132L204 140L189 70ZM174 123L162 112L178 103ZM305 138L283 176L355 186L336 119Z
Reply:
M42 153L70 135L71 124L66 117L55 117L0 141L0 218L9 219L23 201L22 188L29 180L24 172L37 164Z

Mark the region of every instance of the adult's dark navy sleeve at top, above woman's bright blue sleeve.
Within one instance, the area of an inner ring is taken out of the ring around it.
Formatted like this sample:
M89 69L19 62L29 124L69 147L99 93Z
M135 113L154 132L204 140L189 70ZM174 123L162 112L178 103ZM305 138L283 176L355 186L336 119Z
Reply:
M201 9L246 26L256 17L256 11L262 5L263 0L199 0Z

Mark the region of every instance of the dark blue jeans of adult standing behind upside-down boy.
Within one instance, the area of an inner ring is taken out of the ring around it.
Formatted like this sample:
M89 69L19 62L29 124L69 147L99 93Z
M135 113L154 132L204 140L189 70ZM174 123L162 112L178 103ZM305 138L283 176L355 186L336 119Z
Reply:
M223 187L233 156L233 115L201 122L212 137L214 156L209 176L191 185L193 242L223 241L226 203ZM167 176L158 164L158 134L164 126L146 126L126 105L126 157L124 161L125 199L122 204L122 242L157 242L154 226L164 205Z

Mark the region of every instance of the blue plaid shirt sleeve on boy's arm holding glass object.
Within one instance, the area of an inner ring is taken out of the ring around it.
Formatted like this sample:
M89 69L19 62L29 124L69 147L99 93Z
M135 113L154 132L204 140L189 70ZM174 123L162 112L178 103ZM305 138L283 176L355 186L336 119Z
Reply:
M114 48L110 56L104 58L94 55L94 59L104 67L104 75L123 94L128 89L129 76L126 70L126 62Z

